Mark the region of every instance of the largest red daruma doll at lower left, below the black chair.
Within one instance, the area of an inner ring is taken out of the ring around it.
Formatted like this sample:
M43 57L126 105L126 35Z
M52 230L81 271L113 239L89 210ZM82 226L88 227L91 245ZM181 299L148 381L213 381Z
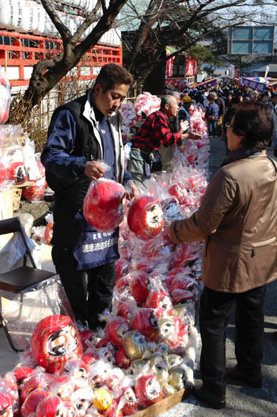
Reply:
M81 357L81 339L69 316L53 314L37 323L31 338L31 349L37 364L55 373L66 361Z

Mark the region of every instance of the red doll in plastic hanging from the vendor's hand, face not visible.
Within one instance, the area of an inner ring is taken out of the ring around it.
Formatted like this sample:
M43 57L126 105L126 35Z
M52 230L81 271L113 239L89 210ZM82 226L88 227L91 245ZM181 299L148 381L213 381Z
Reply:
M84 200L85 220L99 231L115 229L124 218L125 193L124 186L112 179L93 181Z

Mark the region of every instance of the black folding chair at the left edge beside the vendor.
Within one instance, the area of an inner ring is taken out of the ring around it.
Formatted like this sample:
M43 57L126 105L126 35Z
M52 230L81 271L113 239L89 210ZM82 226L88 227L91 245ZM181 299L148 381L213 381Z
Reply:
M33 291L37 284L40 284L42 281L46 281L51 277L55 277L56 274L53 272L44 271L36 268L35 261L33 260L33 256L25 238L24 228L22 227L22 223L20 222L20 219L18 217L10 218L7 220L0 220L0 235L15 232L18 232L20 234L24 246L26 248L26 252L24 254L24 264L20 268L16 268L15 270L11 270L9 272L4 272L3 274L0 274L0 291L20 294L21 311L21 309L23 308L22 300L24 293L28 293L28 290ZM29 257L33 267L26 265L26 256ZM0 309L0 322L8 338L8 342L10 343L10 347L12 347L12 349L15 350L15 352L22 352L22 349L18 349L17 347L15 347L15 344L12 341L7 326L8 323L2 316L2 307Z

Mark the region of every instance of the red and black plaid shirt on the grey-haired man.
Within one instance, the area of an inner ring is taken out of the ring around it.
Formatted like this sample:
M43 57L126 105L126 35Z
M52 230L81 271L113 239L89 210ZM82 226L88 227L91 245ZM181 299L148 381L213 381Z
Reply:
M146 151L156 151L160 145L181 145L181 134L172 133L169 129L169 118L158 110L146 117L144 124L132 139L133 147L139 147Z

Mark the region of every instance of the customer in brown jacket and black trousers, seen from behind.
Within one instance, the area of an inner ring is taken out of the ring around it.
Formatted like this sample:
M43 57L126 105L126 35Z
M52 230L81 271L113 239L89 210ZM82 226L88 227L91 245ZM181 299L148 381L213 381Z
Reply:
M277 277L277 167L267 158L273 133L269 108L239 104L227 127L231 153L190 218L173 222L174 243L205 239L199 325L203 385L194 395L226 405L226 379L262 386L265 286ZM237 366L226 369L226 327L235 305Z

